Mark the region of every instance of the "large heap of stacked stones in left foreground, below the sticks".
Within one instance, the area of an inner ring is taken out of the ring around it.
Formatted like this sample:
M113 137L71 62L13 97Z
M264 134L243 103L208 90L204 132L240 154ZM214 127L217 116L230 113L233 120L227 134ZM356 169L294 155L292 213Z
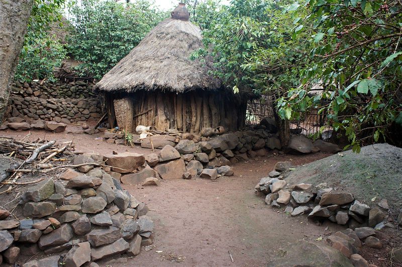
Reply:
M44 251L57 256L23 266L81 266L115 254L135 256L152 244L147 205L104 169L90 169L86 175L68 169L63 181L47 178L30 187L20 200L25 219L0 210L0 264Z

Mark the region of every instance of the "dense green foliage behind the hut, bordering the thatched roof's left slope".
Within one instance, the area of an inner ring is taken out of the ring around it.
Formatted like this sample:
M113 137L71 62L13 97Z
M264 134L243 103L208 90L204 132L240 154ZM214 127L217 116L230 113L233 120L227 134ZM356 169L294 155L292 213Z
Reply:
M115 1L82 0L69 8L75 32L69 51L82 64L82 75L100 79L168 15L145 0L127 5Z

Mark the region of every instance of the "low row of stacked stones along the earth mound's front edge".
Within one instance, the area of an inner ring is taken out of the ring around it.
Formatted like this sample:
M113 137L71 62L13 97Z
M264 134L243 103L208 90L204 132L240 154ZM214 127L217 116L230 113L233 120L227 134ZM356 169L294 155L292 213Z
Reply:
M381 229L391 225L387 222L389 206L386 200L378 207L370 207L354 199L353 194L335 190L321 183L289 185L282 172L291 168L291 162L277 162L275 169L261 178L255 186L265 194L265 202L272 207L285 207L292 216L308 214L309 217L329 219L350 228L370 226Z

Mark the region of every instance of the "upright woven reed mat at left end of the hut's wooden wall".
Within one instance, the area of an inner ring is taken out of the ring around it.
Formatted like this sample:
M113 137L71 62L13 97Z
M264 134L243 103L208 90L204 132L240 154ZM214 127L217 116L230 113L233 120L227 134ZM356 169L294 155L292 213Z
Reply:
M133 102L130 98L114 99L113 105L115 106L115 115L117 120L117 125L120 130L127 130L133 132L133 117L134 108Z

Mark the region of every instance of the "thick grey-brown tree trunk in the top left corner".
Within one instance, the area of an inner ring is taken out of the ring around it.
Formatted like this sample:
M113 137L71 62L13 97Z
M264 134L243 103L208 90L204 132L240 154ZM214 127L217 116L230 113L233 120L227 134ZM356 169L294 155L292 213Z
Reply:
M0 1L0 120L6 111L33 0Z

